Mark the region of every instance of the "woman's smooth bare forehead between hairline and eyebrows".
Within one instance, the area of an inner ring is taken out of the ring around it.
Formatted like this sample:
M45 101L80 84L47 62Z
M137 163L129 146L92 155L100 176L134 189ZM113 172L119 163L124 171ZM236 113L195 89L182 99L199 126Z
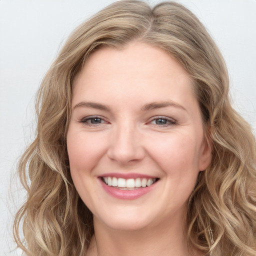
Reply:
M76 76L73 100L105 100L106 94L115 100L139 98L141 103L185 102L193 97L193 86L185 69L164 50L134 42L123 49L96 50Z

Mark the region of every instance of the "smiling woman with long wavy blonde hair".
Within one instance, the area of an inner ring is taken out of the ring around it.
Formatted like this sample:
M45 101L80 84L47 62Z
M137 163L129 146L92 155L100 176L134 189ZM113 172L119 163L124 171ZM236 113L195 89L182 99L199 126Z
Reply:
M182 5L119 1L80 25L37 114L14 224L27 255L256 255L255 139Z

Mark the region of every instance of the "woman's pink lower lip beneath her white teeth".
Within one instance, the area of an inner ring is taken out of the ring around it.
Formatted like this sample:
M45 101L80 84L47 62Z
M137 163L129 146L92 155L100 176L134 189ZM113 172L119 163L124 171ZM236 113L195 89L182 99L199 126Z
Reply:
M136 199L136 198L150 192L154 188L155 183L157 182L156 181L155 183L153 183L150 186L137 188L134 190L122 190L122 189L115 188L113 186L108 186L101 180L101 178L99 178L99 180L100 180L102 187L108 194L110 194L111 196L118 198L118 199L128 199L128 200Z

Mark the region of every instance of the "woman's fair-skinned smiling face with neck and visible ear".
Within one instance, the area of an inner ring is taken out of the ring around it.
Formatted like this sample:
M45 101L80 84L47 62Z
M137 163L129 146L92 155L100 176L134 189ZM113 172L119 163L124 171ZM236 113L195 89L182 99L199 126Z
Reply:
M140 42L92 53L74 80L67 150L93 214L86 256L190 255L187 201L210 148L176 60Z

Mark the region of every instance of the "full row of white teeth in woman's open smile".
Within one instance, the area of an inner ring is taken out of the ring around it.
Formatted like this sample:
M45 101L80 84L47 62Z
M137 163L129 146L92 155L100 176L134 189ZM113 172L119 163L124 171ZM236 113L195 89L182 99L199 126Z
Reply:
M132 190L138 187L146 187L152 185L155 178L117 178L117 177L103 177L103 181L109 186L116 186L120 189Z

